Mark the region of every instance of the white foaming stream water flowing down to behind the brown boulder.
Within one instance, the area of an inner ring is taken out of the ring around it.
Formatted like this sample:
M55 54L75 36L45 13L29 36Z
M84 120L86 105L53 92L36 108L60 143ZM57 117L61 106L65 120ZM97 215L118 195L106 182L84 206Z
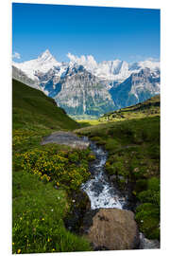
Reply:
M83 137L83 139L88 141L87 137ZM101 147L96 146L92 141L90 141L90 148L96 158L90 168L92 178L82 184L81 189L88 194L91 200L91 209L123 209L126 205L127 198L113 187L107 174L105 174L107 152Z

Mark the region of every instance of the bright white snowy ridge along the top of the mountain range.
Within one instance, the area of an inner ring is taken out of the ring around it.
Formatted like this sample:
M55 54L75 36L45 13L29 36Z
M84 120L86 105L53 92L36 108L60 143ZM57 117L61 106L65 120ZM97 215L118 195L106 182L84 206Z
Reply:
M77 57L71 53L67 54L69 63L59 63L55 57L46 49L37 59L26 61L24 63L12 64L26 73L26 76L32 80L38 81L37 73L47 73L53 69L56 76L64 77L68 67L73 68L76 65L83 65L87 71L101 80L123 82L131 73L139 72L145 67L152 71L160 70L160 62L148 59L144 62L128 64L125 61L113 60L97 63L92 55L82 55Z

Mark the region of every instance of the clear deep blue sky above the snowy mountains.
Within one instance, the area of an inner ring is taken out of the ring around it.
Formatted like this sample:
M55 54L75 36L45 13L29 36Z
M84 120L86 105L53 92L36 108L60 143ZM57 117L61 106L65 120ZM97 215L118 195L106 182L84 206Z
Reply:
M160 10L12 4L14 60L37 58L46 48L59 62L68 52L97 62L160 59Z

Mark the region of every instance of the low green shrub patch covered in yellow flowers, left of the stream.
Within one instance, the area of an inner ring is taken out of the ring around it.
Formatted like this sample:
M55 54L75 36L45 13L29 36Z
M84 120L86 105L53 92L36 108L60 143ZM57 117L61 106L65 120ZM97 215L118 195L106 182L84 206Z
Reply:
M89 150L66 153L51 146L17 154L15 159L26 172L39 175L44 183L54 180L68 190L77 190L90 176L89 155Z

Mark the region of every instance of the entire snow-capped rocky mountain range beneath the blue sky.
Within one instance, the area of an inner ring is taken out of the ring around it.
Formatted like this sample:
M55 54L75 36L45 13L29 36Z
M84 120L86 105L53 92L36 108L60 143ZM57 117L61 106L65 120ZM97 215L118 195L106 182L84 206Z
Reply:
M12 77L42 90L76 118L99 117L160 93L158 61L97 63L92 55L67 57L69 63L59 63L45 50L37 59L12 62Z

